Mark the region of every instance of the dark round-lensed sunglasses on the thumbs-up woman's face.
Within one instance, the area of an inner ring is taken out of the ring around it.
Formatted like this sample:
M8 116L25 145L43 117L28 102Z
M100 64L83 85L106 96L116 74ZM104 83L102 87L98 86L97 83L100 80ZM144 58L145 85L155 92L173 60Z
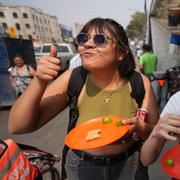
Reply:
M84 44L89 40L91 39L91 37L86 34L86 33L80 33L77 35L76 37L76 43L79 45L79 46L84 46ZM108 38L107 36L105 36L104 34L96 34L93 36L93 42L94 44L96 45L96 47L105 47L106 45L106 42L107 42L107 39L110 39Z

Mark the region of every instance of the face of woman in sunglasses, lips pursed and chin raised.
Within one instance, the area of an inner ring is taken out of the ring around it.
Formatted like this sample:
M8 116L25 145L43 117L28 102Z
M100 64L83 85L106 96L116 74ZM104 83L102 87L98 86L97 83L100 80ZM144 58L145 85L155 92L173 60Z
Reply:
M91 30L88 33L89 40L84 45L78 46L83 66L88 70L114 68L120 56L120 53L116 50L115 40L108 31L105 31L105 36L108 37L106 43L104 46L98 47L93 42L93 37L96 34L98 33L95 30Z

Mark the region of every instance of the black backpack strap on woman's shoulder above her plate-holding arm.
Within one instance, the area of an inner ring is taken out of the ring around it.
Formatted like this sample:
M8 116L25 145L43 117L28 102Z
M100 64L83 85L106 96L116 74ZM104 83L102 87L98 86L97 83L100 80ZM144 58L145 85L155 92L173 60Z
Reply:
M137 71L133 71L129 81L132 88L131 97L136 100L136 103L140 108L142 106L145 95L143 78L140 73L138 73Z

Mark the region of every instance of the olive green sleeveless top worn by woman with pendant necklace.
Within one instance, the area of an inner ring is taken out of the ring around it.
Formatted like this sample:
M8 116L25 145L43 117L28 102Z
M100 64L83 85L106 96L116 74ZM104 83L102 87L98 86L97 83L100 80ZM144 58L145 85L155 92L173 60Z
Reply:
M84 92L78 103L79 118L76 125L99 116L135 116L137 104L130 92L128 81L116 90L104 90L97 87L87 75Z

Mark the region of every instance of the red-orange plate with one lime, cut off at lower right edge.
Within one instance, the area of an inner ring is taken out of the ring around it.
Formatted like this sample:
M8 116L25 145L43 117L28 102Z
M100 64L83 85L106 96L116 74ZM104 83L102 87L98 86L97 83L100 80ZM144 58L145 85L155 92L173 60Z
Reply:
M174 165L171 167L166 165L166 160L169 157L174 160ZM180 179L180 144L173 146L164 153L161 159L161 167L170 177Z

